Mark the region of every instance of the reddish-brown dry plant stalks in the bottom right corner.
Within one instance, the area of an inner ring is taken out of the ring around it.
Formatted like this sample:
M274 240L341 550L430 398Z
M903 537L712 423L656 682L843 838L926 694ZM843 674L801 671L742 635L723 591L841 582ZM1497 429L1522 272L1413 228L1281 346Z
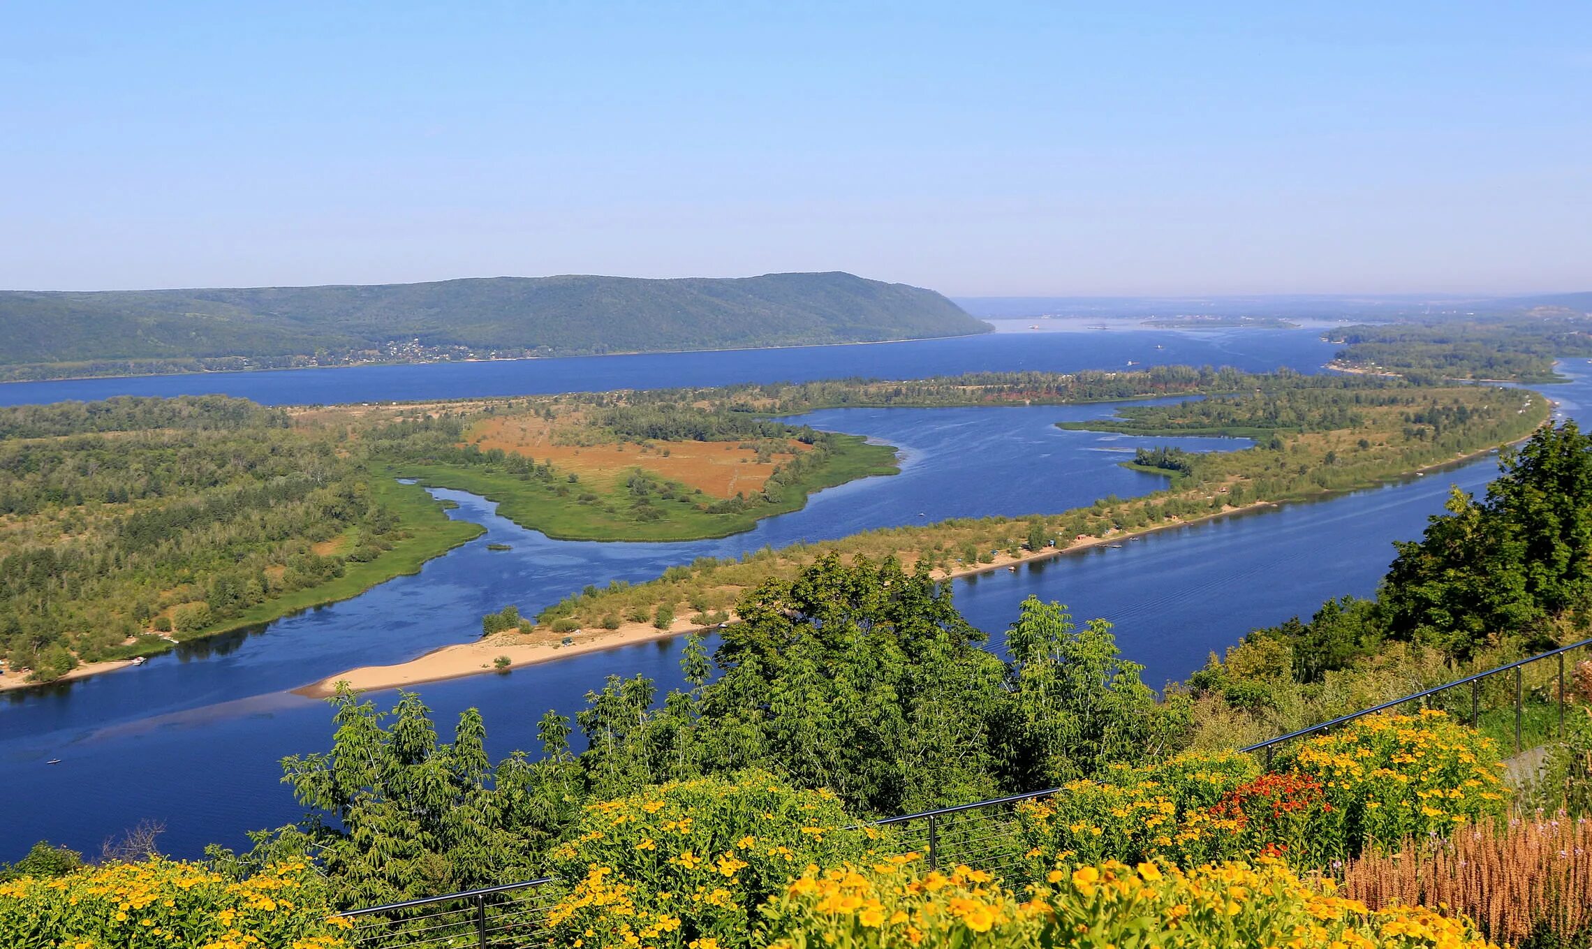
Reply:
M1406 841L1398 853L1344 865L1345 896L1372 909L1446 906L1519 944L1539 928L1567 939L1592 927L1592 820L1514 817L1465 826L1449 841Z

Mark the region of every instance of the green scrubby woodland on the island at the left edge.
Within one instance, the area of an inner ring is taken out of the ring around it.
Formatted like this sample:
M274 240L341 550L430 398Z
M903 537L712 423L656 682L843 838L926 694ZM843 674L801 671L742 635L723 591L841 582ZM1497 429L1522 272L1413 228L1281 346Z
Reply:
M221 396L0 411L6 667L150 651L388 549L398 517L360 460L287 425Z

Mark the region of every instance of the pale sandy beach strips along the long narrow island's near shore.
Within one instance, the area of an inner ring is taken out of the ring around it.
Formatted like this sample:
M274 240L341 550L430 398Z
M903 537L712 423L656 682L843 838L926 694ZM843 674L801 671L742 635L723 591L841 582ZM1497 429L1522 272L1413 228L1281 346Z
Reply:
M1157 530L1170 530L1173 527L1184 527L1188 524L1210 521L1212 517L1224 517L1229 514L1237 514L1240 511L1253 511L1270 506L1275 505L1272 505L1270 502L1256 502L1253 505L1243 505L1240 508L1224 508L1219 513L1207 514L1204 517L1172 521L1169 524L1157 524L1154 527L1146 527L1143 530L1114 532L1106 537L1091 537L1086 540L1073 541L1065 548L1046 548L1043 551L1027 551L1016 557L1001 553L997 554L995 560L990 564L976 564L971 567L963 567L960 570L952 570L949 573L944 570L935 570L933 576L936 580L952 580L957 576L970 576L974 573L992 573L995 570L1008 570L1017 567L1019 564L1027 564L1030 560L1046 560L1051 557L1062 557L1087 548L1122 543L1129 538L1143 537L1146 533L1154 533ZM338 689L339 681L345 681L352 688L363 691L403 688L411 685L420 685L425 681L443 681L447 678L460 678L465 675L481 675L484 672L495 672L497 669L494 666L494 661L498 656L508 656L511 664L509 669L521 669L524 666L551 662L554 659L568 659L572 656L595 653L599 650L613 650L635 643L654 642L700 629L708 629L708 627L693 626L691 623L683 619L677 619L673 626L670 626L667 631L657 629L646 623L626 623L621 624L619 629L587 629L576 634L570 634L570 639L573 642L567 646L560 645L564 635L551 631L537 631L529 634L500 632L471 643L454 643L441 646L423 656L409 659L408 662L398 662L393 666L361 666L358 669L349 669L347 672L339 672L338 675L328 675L326 678L314 685L307 685L304 688L293 691L296 691L301 696L325 697Z

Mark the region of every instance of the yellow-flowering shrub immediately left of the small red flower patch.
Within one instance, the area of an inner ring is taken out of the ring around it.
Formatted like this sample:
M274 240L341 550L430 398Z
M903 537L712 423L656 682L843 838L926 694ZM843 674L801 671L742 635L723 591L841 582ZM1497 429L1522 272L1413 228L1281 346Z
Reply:
M1242 853L1239 820L1210 807L1258 774L1247 755L1178 755L1154 767L1116 767L1100 782L1079 780L1051 798L1017 806L1017 822L1038 871L1055 860L1148 860L1192 866Z

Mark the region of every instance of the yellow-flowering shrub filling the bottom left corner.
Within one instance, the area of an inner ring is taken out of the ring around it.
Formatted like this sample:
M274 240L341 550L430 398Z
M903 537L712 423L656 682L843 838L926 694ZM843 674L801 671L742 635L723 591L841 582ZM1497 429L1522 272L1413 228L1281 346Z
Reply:
M170 860L111 863L0 884L8 949L342 949L320 881L304 863L232 882Z

